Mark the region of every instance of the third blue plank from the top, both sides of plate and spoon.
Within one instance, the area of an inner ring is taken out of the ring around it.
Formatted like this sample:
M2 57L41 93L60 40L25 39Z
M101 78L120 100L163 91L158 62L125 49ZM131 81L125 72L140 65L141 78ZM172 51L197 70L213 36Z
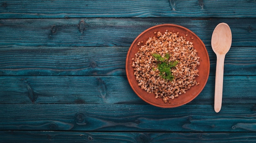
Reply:
M216 55L208 48L210 75ZM0 76L125 76L129 47L2 47ZM225 75L256 75L256 48L231 47Z

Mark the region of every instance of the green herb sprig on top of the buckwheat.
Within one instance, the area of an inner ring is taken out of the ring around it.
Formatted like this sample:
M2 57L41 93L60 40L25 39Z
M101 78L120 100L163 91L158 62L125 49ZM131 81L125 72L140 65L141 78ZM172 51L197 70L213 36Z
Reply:
M157 64L157 69L160 72L160 76L165 80L173 80L174 76L171 72L171 68L175 67L178 61L168 62L170 58L170 55L168 53L166 53L164 57L156 53L152 54L152 56L156 58L157 61L159 62Z

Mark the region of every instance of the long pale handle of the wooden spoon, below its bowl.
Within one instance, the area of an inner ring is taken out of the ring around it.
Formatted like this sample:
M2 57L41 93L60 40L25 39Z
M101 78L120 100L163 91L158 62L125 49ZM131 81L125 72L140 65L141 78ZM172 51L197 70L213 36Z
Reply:
M222 104L224 60L225 54L217 55L214 93L214 110L216 113L220 112Z

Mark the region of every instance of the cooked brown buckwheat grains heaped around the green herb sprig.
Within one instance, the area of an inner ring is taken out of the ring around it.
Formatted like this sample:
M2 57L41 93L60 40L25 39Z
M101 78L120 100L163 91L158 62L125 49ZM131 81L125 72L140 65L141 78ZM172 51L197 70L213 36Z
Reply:
M155 93L155 98L162 98L165 103L171 103L169 99L175 99L182 93L186 93L193 85L199 85L195 80L198 75L197 66L200 65L197 50L193 43L186 41L186 37L178 36L179 32L173 33L166 30L154 32L155 37L150 37L144 45L139 48L135 57L132 58L134 75L138 86L148 93ZM168 62L178 61L177 65L171 68L173 80L164 79L158 69L157 59L152 56L159 54L162 58L166 54L170 57Z

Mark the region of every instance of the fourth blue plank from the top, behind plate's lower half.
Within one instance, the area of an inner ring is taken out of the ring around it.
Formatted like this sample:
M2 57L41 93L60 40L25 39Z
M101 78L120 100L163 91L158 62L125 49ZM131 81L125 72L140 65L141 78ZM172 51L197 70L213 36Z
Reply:
M214 78L189 104L213 104ZM255 104L255 87L256 76L224 76L223 104ZM1 76L0 103L146 104L126 76Z

